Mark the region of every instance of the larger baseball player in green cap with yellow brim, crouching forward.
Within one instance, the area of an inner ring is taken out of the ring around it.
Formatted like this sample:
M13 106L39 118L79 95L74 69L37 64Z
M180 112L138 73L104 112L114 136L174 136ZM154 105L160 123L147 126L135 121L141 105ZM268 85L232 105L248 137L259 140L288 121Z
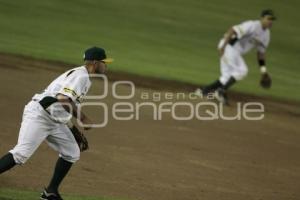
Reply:
M102 74L112 62L104 49L92 47L84 53L84 65L73 68L56 78L41 94L35 94L25 106L17 145L0 159L0 174L15 165L24 164L39 145L46 140L59 152L53 177L41 194L41 200L61 200L58 188L73 163L79 160L82 146L73 135L78 129L70 124L72 117L92 128L91 120L78 106L87 94L90 74ZM85 142L85 141L83 141Z

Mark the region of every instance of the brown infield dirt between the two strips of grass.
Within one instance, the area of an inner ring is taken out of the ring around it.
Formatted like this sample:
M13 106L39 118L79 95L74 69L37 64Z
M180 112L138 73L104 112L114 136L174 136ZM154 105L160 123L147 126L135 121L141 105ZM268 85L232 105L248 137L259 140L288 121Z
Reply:
M0 55L1 155L17 142L25 104L68 67ZM140 102L143 92L193 89L122 73L109 73L108 79L135 82L136 95L127 100L132 103ZM119 89L128 92L126 86ZM86 133L90 150L82 153L61 192L137 200L299 199L299 104L233 96L233 105L252 100L264 103L265 118L176 121L164 115L157 121L148 109L141 110L138 121L110 117L107 126ZM111 108L117 100L109 95L102 102ZM88 112L94 119L101 119L101 111ZM183 109L180 112L185 114ZM235 113L235 106L225 112ZM28 163L1 175L0 187L42 190L56 159L57 153L43 143Z

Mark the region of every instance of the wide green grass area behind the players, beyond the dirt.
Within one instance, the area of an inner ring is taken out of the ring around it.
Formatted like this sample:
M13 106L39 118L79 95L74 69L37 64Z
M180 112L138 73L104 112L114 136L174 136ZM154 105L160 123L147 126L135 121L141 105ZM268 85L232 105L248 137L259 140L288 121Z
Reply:
M263 8L279 17L267 65L273 88L249 76L233 89L300 101L300 2L289 0L0 0L0 51L80 64L83 50L103 46L114 71L206 84L219 76L218 40L231 25Z

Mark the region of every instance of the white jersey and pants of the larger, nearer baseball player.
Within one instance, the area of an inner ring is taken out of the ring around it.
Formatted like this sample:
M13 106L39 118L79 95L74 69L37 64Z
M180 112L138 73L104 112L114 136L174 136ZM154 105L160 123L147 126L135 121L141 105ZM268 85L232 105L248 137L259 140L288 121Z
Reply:
M81 66L63 73L43 93L33 96L24 108L18 143L9 151L17 164L25 163L44 140L66 161L79 159L79 147L66 125L72 115L59 102L50 104L47 109L40 102L45 97L63 94L78 105L90 86L88 71Z

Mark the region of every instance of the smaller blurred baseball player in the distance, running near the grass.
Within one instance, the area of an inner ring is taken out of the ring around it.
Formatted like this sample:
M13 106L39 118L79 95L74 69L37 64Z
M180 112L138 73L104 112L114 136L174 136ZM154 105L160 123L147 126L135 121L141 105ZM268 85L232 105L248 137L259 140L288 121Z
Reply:
M270 42L270 28L275 19L274 12L268 9L261 12L260 20L245 21L230 28L218 45L221 56L220 78L202 89L197 89L196 95L206 96L210 92L216 92L216 99L228 104L226 91L247 75L248 67L242 56L252 48L257 50L262 74L260 84L264 88L270 88L271 78L267 73L265 53Z

